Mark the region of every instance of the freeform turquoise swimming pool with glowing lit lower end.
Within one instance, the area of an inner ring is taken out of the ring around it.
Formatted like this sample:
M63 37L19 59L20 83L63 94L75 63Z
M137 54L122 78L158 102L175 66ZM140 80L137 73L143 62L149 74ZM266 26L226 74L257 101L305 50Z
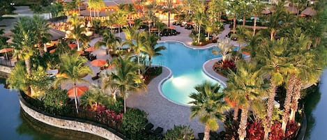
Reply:
M172 77L164 81L162 94L168 100L177 104L190 105L190 93L196 92L194 87L208 80L218 83L202 71L204 62L219 57L211 53L212 49L191 49L180 42L160 42L166 50L160 52L162 56L153 58L154 65L165 65L172 70Z

